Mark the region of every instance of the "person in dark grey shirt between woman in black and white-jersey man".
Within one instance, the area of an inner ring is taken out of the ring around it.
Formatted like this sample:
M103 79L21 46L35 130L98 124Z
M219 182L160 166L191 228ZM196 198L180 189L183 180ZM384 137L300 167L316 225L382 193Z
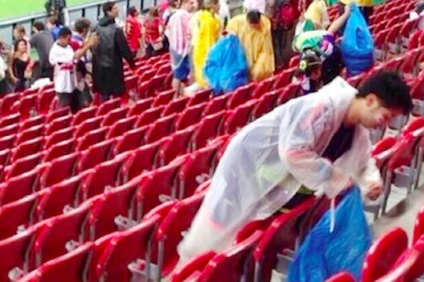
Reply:
M53 67L49 63L49 51L52 49L54 39L52 32L46 30L44 23L35 22L33 25L33 36L30 38L31 59L35 63L33 81L39 78L53 79Z

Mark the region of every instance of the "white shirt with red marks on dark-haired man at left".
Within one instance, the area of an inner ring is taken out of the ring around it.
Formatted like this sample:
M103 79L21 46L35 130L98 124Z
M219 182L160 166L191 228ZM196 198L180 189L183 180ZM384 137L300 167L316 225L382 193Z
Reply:
M54 66L54 91L72 93L75 90L76 75L73 60L74 52L70 45L61 47L57 42L50 49L49 62Z

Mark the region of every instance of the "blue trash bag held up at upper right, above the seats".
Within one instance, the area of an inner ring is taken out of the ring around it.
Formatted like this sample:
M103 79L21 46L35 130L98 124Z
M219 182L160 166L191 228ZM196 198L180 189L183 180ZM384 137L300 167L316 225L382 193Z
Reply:
M374 65L374 39L356 4L351 4L351 16L341 41L341 53L350 76L367 71Z

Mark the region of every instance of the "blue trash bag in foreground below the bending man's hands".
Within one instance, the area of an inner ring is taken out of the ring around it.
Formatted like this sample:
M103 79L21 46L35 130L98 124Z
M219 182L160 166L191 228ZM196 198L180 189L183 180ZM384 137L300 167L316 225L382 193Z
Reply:
M307 235L290 265L288 282L323 282L341 271L350 272L360 281L372 233L358 187L346 192L335 213L332 233L329 210Z

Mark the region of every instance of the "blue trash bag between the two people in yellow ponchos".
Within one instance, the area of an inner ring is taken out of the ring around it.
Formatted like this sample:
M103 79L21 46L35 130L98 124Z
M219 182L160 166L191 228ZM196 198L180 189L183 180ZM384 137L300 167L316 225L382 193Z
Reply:
M215 94L235 90L249 82L249 64L235 35L220 39L209 52L205 75Z

